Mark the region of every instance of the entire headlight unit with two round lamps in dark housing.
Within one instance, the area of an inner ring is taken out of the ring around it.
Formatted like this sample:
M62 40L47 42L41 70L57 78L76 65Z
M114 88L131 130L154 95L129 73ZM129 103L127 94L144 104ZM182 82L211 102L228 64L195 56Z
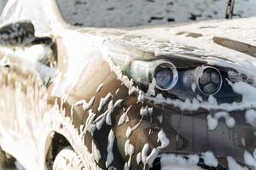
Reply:
M218 102L233 102L241 97L234 93L225 80L240 81L243 77L230 68L213 67L210 65L186 65L182 62L166 59L153 61L131 60L125 68L126 76L133 79L139 88L147 91L149 84L155 80L157 93L165 92L165 97L172 99L194 99L201 96L208 99L214 95ZM176 65L178 67L176 67ZM250 82L250 78L244 78Z

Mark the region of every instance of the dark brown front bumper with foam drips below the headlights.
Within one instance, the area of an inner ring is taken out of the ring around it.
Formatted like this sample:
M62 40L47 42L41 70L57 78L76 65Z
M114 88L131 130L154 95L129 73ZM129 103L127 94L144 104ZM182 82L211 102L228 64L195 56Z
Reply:
M137 103L137 96L130 96L123 103L124 108L131 106L128 112L129 122L115 126L117 144L121 155L125 156L125 142L135 147L136 153L132 159L132 167L142 167L137 163L137 154L149 144L150 150L160 147L158 133L162 129L166 133L169 144L160 150L160 154L198 155L212 151L218 162L228 168L227 156L232 156L237 162L245 164L243 155L247 150L253 153L256 147L255 128L245 119L245 111L232 111L230 116L236 121L235 127L227 126L225 119L218 119L218 127L209 130L207 116L214 115L217 111L180 111L172 105L163 106L145 101ZM153 108L147 116L141 116L143 108ZM168 108L168 109L166 109ZM115 116L119 121L123 112ZM127 137L127 129L133 129L131 136ZM150 151L148 151L148 155Z

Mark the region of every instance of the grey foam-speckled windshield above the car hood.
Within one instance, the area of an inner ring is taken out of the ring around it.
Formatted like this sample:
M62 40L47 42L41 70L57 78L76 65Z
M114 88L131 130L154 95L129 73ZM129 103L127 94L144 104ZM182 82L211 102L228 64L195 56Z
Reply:
M130 27L224 19L228 0L57 0L73 26ZM235 3L235 18L256 16L255 0Z

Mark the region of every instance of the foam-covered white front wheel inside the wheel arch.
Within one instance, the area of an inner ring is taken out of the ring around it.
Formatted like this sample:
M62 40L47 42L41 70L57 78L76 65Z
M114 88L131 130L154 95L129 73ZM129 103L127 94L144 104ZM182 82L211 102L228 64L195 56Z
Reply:
M53 170L85 170L85 168L77 153L67 147L55 157Z

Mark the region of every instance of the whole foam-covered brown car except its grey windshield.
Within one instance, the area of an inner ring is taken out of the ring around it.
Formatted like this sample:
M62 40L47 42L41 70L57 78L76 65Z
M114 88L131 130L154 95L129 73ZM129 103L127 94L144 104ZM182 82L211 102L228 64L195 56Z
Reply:
M24 167L256 166L255 18L80 28L38 4L0 29L0 143Z

